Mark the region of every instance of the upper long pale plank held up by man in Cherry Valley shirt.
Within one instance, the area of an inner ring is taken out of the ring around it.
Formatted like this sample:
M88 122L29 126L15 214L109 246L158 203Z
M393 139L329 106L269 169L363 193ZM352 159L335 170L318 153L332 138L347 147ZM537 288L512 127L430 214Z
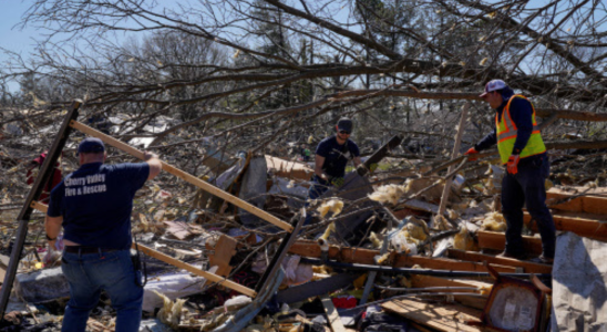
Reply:
M117 148L117 149L121 149L136 158L140 158L143 160L143 153L132 146L130 146L128 144L124 143L124 142L121 142L112 136L109 136L109 135L105 135L99 131L95 131L93 128L91 128L90 126L83 124L83 123L80 123L78 121L72 121L70 123L70 126L86 134L86 135L90 135L90 136L93 136L93 137L97 137L100 138L101 141L103 141L104 143L106 144L110 144L112 145L113 147ZM285 222L280 219L278 219L277 217L264 211L263 209L245 201L245 200L241 200L240 198L234 196L234 195L230 195L213 185L210 185L209 183L206 183L188 173L185 173L183 170L181 170L179 168L173 166L173 165L169 165L165 162L162 162L163 164L163 170L167 172L167 173L171 173L175 176L177 176L178 178L189 183L189 184L193 184L195 185L196 187L198 188L202 188L203 190L205 191L208 191L219 198L223 198L224 200L239 207L239 208L243 208L245 210L247 210L248 212L270 222L270 224L274 224L280 228L282 228L284 230L287 230L287 231L292 231L292 226L289 225L288 222Z

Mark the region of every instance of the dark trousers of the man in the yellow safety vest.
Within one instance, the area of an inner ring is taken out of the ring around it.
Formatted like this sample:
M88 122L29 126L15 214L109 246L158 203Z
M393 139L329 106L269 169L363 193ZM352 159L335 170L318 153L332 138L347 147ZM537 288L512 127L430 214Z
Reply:
M537 222L542 236L542 251L547 258L554 258L555 227L553 216L546 207L545 179L548 177L551 164L548 157L524 163L515 175L508 174L502 180L502 212L506 219L506 252L524 253L523 249L523 206Z

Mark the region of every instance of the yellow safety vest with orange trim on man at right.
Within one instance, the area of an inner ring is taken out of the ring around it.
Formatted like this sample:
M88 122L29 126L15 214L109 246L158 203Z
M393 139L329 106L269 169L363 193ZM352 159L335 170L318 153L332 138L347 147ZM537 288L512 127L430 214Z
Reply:
M502 164L506 164L508 162L508 157L512 155L512 151L514 149L514 142L516 141L516 134L518 131L516 129L516 125L512 121L512 117L510 116L510 104L515 97L522 97L529 102L524 95L514 95L510 98L508 103L504 107L504 111L502 111L502 118L497 116L497 113L495 113L495 128L497 133L497 149L500 151L500 157L502 159ZM542 139L542 135L539 134L539 128L537 127L537 123L535 122L535 107L532 105L533 114L532 114L532 122L533 122L533 132L529 137L529 141L527 142L527 145L523 148L521 152L521 158L531 157L534 155L538 155L546 152L546 146L544 145L544 141Z

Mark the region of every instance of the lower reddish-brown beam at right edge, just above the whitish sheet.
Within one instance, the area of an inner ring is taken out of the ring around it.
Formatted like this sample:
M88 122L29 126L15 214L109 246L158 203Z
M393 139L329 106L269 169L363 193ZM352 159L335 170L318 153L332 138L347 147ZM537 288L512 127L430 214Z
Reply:
M528 226L532 217L525 211L524 222ZM604 215L594 215L586 212L558 211L553 214L554 226L556 230L570 231L580 237L590 238L599 241L607 241L607 219ZM537 224L534 222L532 230L537 231Z

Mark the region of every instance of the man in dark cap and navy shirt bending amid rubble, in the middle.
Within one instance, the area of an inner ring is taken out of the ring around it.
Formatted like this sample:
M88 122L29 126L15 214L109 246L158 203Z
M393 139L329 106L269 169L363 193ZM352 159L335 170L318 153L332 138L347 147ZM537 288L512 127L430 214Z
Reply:
M308 201L317 199L331 186L340 187L343 185L346 165L349 160L354 163L354 167L361 164L358 145L349 138L352 127L352 121L342 117L337 122L336 135L327 137L318 144L315 157L315 175L312 186L308 191ZM310 220L311 215L308 214L306 224L309 224Z

